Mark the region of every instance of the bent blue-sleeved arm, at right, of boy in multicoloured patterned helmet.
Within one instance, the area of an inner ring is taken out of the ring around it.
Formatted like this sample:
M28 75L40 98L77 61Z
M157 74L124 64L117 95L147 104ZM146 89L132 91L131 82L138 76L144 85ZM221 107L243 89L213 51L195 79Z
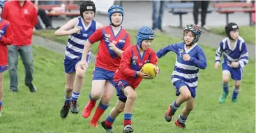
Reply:
M195 57L190 57L189 61L190 63L193 63L193 65L195 65L197 68L204 70L207 66L207 61L204 54L204 50L202 48L198 50L197 56L198 56L198 60Z

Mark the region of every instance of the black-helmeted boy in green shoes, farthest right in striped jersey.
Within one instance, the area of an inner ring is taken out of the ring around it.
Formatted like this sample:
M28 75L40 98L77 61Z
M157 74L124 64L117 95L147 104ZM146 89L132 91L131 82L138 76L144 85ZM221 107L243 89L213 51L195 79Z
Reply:
M216 50L215 69L220 68L220 58L224 55L223 61L223 94L219 102L223 103L229 93L229 75L234 79L232 102L237 102L237 96L240 91L240 84L243 75L243 67L248 63L248 52L246 42L239 36L239 26L230 22L225 26L227 38L220 42Z

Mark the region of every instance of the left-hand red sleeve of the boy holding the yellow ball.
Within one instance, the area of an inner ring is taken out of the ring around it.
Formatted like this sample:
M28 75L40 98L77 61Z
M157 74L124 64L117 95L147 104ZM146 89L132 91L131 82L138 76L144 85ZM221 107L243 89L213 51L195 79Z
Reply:
M128 49L123 52L121 63L120 63L120 70L123 75L127 75L128 77L137 77L137 73L135 70L130 69L130 58L131 58L131 49Z

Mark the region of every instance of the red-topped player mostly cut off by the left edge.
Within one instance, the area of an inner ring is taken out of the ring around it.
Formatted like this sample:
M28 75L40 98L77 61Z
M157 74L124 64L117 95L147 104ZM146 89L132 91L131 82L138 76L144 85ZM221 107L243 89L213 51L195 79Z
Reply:
M0 116L1 107L3 104L3 72L8 69L7 58L8 49L7 45L13 43L12 29L10 23L1 17L3 13L3 1L0 1Z

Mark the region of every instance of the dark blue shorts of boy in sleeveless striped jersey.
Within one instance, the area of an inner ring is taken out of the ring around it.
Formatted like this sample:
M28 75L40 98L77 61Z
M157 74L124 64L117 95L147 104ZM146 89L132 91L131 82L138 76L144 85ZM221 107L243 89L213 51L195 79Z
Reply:
M87 54L86 62L88 63L88 65L90 62L90 58L91 58L91 55ZM81 58L74 58L74 59L65 58L63 61L65 72L66 73L75 72L75 65L77 65L79 61L81 61Z

